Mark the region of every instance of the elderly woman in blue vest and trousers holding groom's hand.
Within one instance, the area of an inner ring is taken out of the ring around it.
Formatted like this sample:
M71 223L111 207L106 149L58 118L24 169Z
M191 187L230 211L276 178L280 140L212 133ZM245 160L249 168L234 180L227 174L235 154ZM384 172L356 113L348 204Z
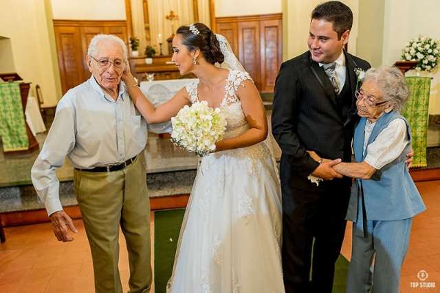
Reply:
M408 98L404 75L396 67L369 69L356 98L355 163L333 167L355 178L347 211L353 222L347 292L373 286L375 293L398 293L412 218L426 209L405 164L411 134L399 114Z

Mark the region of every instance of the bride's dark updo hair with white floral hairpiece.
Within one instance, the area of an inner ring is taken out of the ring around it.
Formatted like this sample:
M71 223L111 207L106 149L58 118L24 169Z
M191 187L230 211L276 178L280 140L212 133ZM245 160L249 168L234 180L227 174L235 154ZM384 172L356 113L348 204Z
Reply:
M211 64L223 63L225 60L225 56L221 53L219 40L212 30L203 23L182 25L177 29L176 34L180 34L182 43L189 51L200 49L205 60Z

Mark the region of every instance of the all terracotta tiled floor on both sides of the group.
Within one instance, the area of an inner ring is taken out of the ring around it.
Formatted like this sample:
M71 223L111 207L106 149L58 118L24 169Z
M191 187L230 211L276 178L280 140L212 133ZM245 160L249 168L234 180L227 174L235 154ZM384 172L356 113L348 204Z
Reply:
M428 210L415 218L410 248L401 276L401 292L440 292L440 181L417 183ZM78 234L59 243L50 224L5 228L7 242L0 244L0 292L94 292L93 268L83 222L75 220ZM153 233L153 216L151 218ZM153 235L152 235L153 236ZM124 237L120 236L120 274L128 290L129 269ZM347 226L342 254L350 259L351 225ZM411 288L425 270L436 288ZM151 291L153 292L153 290Z

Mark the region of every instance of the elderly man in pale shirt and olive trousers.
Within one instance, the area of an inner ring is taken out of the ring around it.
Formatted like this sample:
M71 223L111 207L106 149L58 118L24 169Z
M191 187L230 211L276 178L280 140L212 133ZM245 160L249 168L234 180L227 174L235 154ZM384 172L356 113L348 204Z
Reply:
M146 144L146 122L137 115L121 82L127 66L120 38L95 36L87 52L91 78L69 90L58 103L54 123L32 167L32 183L45 204L58 241L69 242L74 223L63 211L55 169L68 156L89 239L96 292L122 292L118 235L129 251L130 292L151 286L150 206L146 172L137 158ZM155 132L170 124L155 126ZM148 126L150 128L150 126Z

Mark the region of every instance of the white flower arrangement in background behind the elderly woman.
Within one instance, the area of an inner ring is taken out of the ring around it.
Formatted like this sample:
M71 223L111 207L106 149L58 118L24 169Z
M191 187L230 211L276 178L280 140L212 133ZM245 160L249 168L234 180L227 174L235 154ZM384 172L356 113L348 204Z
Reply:
M439 62L440 45L437 40L419 36L410 40L403 49L401 58L406 61L418 61L415 70L432 71Z

